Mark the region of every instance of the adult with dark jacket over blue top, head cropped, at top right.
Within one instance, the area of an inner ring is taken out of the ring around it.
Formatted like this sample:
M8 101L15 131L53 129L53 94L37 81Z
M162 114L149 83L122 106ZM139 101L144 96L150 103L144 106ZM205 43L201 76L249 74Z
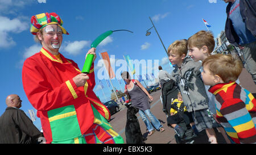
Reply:
M225 34L229 43L242 49L245 69L256 85L256 3L248 0L224 0L226 7Z

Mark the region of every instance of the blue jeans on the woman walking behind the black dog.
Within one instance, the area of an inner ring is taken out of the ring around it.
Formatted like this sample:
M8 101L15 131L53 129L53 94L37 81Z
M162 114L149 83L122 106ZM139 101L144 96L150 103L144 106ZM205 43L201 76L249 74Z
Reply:
M141 115L141 118L143 122L146 124L146 127L148 129L148 132L153 131L154 127L152 127L150 121L148 120L147 116L150 118L151 123L154 125L154 127L159 130L163 125L160 124L159 120L155 118L155 116L151 113L150 109L147 109L145 111L139 110L139 115Z

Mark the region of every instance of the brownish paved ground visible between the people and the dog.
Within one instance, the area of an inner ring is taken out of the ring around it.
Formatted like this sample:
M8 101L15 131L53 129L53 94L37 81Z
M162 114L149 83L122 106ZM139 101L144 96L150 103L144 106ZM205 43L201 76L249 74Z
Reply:
M245 89L251 91L251 93L256 96L256 85L254 84L253 80L251 79L250 74L243 69L241 76L239 77L241 85L245 87ZM166 122L166 115L162 112L162 103L160 101L160 94L161 91L156 91L152 93L152 97L154 98L153 102L151 103L151 112L158 118L166 129L164 132L156 131L152 136L147 136L148 132L146 131L146 125L142 121L139 114L137 117L139 118L139 123L141 125L142 135L147 137L145 141L146 144L176 144L174 135L174 129L167 126ZM116 114L112 115L112 119L110 120L110 124L113 126L114 131L118 132L119 135L123 137L126 143L125 137L125 125L126 125L126 108L123 108L121 111L117 112ZM217 133L217 141L220 144L225 144L225 140L223 139L222 135L216 130ZM205 132L201 132L200 136L195 139L196 144L205 144L208 143L208 138Z

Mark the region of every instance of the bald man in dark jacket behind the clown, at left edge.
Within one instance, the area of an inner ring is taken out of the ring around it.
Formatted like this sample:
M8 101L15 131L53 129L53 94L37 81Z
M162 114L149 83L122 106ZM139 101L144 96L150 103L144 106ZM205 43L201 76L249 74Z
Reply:
M22 100L18 95L8 95L7 108L0 117L0 144L38 143L42 133L35 127L30 118L19 110Z

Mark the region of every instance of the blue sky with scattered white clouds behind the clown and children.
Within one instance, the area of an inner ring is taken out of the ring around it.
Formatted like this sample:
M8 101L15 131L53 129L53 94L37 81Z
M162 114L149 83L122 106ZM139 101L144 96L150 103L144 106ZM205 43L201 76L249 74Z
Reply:
M50 0L0 0L0 57L1 57L1 93L0 115L5 111L5 99L9 94L18 94L23 100L21 109L35 110L28 101L22 85L22 66L24 60L39 52L41 46L35 43L30 33L32 15L42 12L56 12L63 19L63 27L70 35L63 35L60 52L74 60L82 69L85 54L90 43L98 35L108 30L126 29L129 32L114 32L98 45L97 52L108 52L114 61L123 60L123 55L130 55L133 60L151 60L157 65L142 66L139 71L156 73L158 65L171 72L166 52L154 29L146 36L146 30L152 27L153 20L166 48L178 39L188 39L197 31L206 30L202 18L212 27L214 37L224 30L226 3L220 0L85 0L85 1L50 1ZM98 53L97 53L98 54ZM105 102L98 83L96 58L96 87L94 92ZM126 67L126 66L125 66ZM115 70L119 67L115 66ZM116 75L119 76L119 75ZM120 89L117 80L113 85ZM104 94L109 99L110 92L105 80ZM124 87L122 81L121 87ZM112 88L110 88L112 89ZM34 122L40 128L40 119Z

